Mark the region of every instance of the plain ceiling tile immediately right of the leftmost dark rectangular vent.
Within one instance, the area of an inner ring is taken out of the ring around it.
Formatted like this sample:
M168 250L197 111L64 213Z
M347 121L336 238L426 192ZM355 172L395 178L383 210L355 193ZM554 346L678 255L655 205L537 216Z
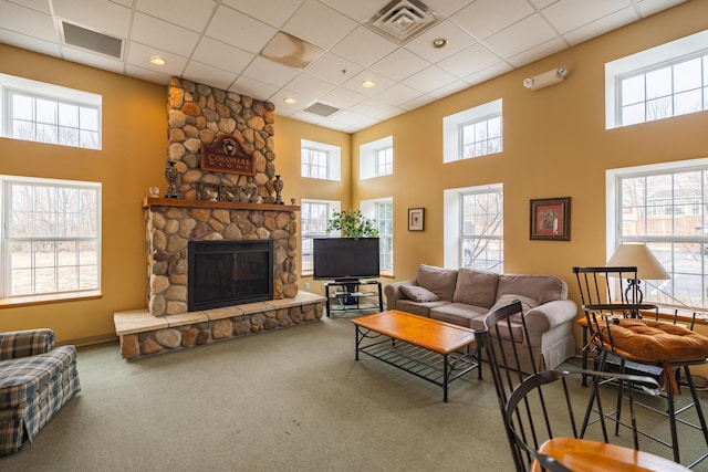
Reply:
M156 18L148 17L145 13L136 12L131 39L143 44L152 44L155 48L175 54L190 55L197 45L199 35Z

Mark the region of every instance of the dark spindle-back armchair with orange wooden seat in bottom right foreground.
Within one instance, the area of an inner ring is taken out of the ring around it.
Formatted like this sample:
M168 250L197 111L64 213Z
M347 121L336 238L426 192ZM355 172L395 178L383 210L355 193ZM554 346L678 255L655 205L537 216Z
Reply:
M643 376L627 376L613 373L601 373L594 370L577 370L573 374L579 376L585 375L593 380L593 392L597 389L597 395L592 397L589 394L584 395L581 400L581 409L573 408L571 401L571 391L569 390L565 377L571 374L570 370L554 370L549 371L533 371L530 375L524 374L520 367L520 350L523 348L522 339L523 334L527 331L522 305L520 302L513 302L510 305L503 306L491 312L485 318L486 329L477 332L478 347L485 353L485 357L489 363L491 376L497 390L497 399L501 411L501 417L504 422L507 439L511 450L512 459L517 471L530 470L532 464L535 464L538 460L541 460L540 464L549 465L549 470L569 470L563 469L563 465L553 463L546 463L543 452L537 453L541 450L548 439L553 438L569 438L573 440L573 447L577 445L579 451L586 453L592 451L597 455L596 460L611 463L615 461L615 455L622 457L623 461L628 461L626 464L638 464L644 460L657 460L662 462L662 458L654 458L646 453L636 453L632 448L621 448L620 445L610 445L610 436L607 434L606 421L614 421L612 415L605 413L603 409L603 398L606 396L600 395L600 390L604 388L604 384L607 379L618 380L632 385L628 395L628 406L631 412L633 434L636 436L636 417L634 415L633 407L633 394L634 387L641 386L642 389L647 392L658 391L658 384L650 377ZM509 343L508 340L517 340L516 343ZM504 342L507 340L507 342ZM528 347L527 347L528 348ZM555 389L549 395L544 396L543 390L540 388L544 379L552 378L553 380L561 380L562 389ZM527 392L519 394L520 386L524 386L523 389L529 389L529 379L533 380L535 403L531 406L530 400L524 400ZM538 388L537 388L538 387ZM582 389L582 392L587 392L586 389ZM519 407L521 402L521 407ZM577 402L577 401L576 401ZM513 403L513 406L512 406ZM524 411L522 411L524 410ZM604 442L591 441L587 442L582 439L580 423L575 420L576 415L579 418L583 418L583 424L590 424L590 420L601 426L601 431L593 431L594 437L602 438ZM558 424L561 421L561 424ZM627 442L625 438L621 438ZM633 437L634 442L636 438ZM581 442L577 442L581 441ZM552 444L559 444L558 441ZM580 444L580 445L579 445ZM605 444L606 447L600 448L597 444ZM620 449L617 449L620 448ZM620 454L622 452L622 454ZM568 454L568 452L562 452ZM603 459L603 454L607 454ZM632 459L634 458L634 459ZM637 461L637 462L634 462ZM562 457L556 459L556 462L563 463ZM670 461L669 461L670 462ZM552 465L552 466L551 466ZM555 468L555 469L554 469ZM666 470L685 470L685 469L666 469Z

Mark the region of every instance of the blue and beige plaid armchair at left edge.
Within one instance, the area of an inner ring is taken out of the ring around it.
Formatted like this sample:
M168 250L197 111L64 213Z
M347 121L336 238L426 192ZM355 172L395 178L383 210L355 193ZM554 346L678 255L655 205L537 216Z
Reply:
M54 332L0 333L0 455L15 452L81 390L76 348Z

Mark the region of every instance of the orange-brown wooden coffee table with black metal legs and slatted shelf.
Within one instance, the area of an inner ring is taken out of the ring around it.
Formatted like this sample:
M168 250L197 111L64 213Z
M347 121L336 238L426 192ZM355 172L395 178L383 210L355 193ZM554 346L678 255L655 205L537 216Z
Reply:
M356 325L356 360L364 353L442 387L478 369L479 344L475 331L425 316L392 310L352 319ZM383 339L382 339L383 337ZM470 350L475 349L475 354Z

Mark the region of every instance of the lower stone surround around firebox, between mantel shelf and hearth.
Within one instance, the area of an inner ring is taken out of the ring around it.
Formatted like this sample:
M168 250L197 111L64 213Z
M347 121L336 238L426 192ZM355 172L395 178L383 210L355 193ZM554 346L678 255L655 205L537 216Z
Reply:
M298 294L295 212L228 208L148 206L148 311L154 316L187 313L189 241L273 240L273 298ZM215 202L214 206L229 203ZM274 206L266 206L274 207Z

